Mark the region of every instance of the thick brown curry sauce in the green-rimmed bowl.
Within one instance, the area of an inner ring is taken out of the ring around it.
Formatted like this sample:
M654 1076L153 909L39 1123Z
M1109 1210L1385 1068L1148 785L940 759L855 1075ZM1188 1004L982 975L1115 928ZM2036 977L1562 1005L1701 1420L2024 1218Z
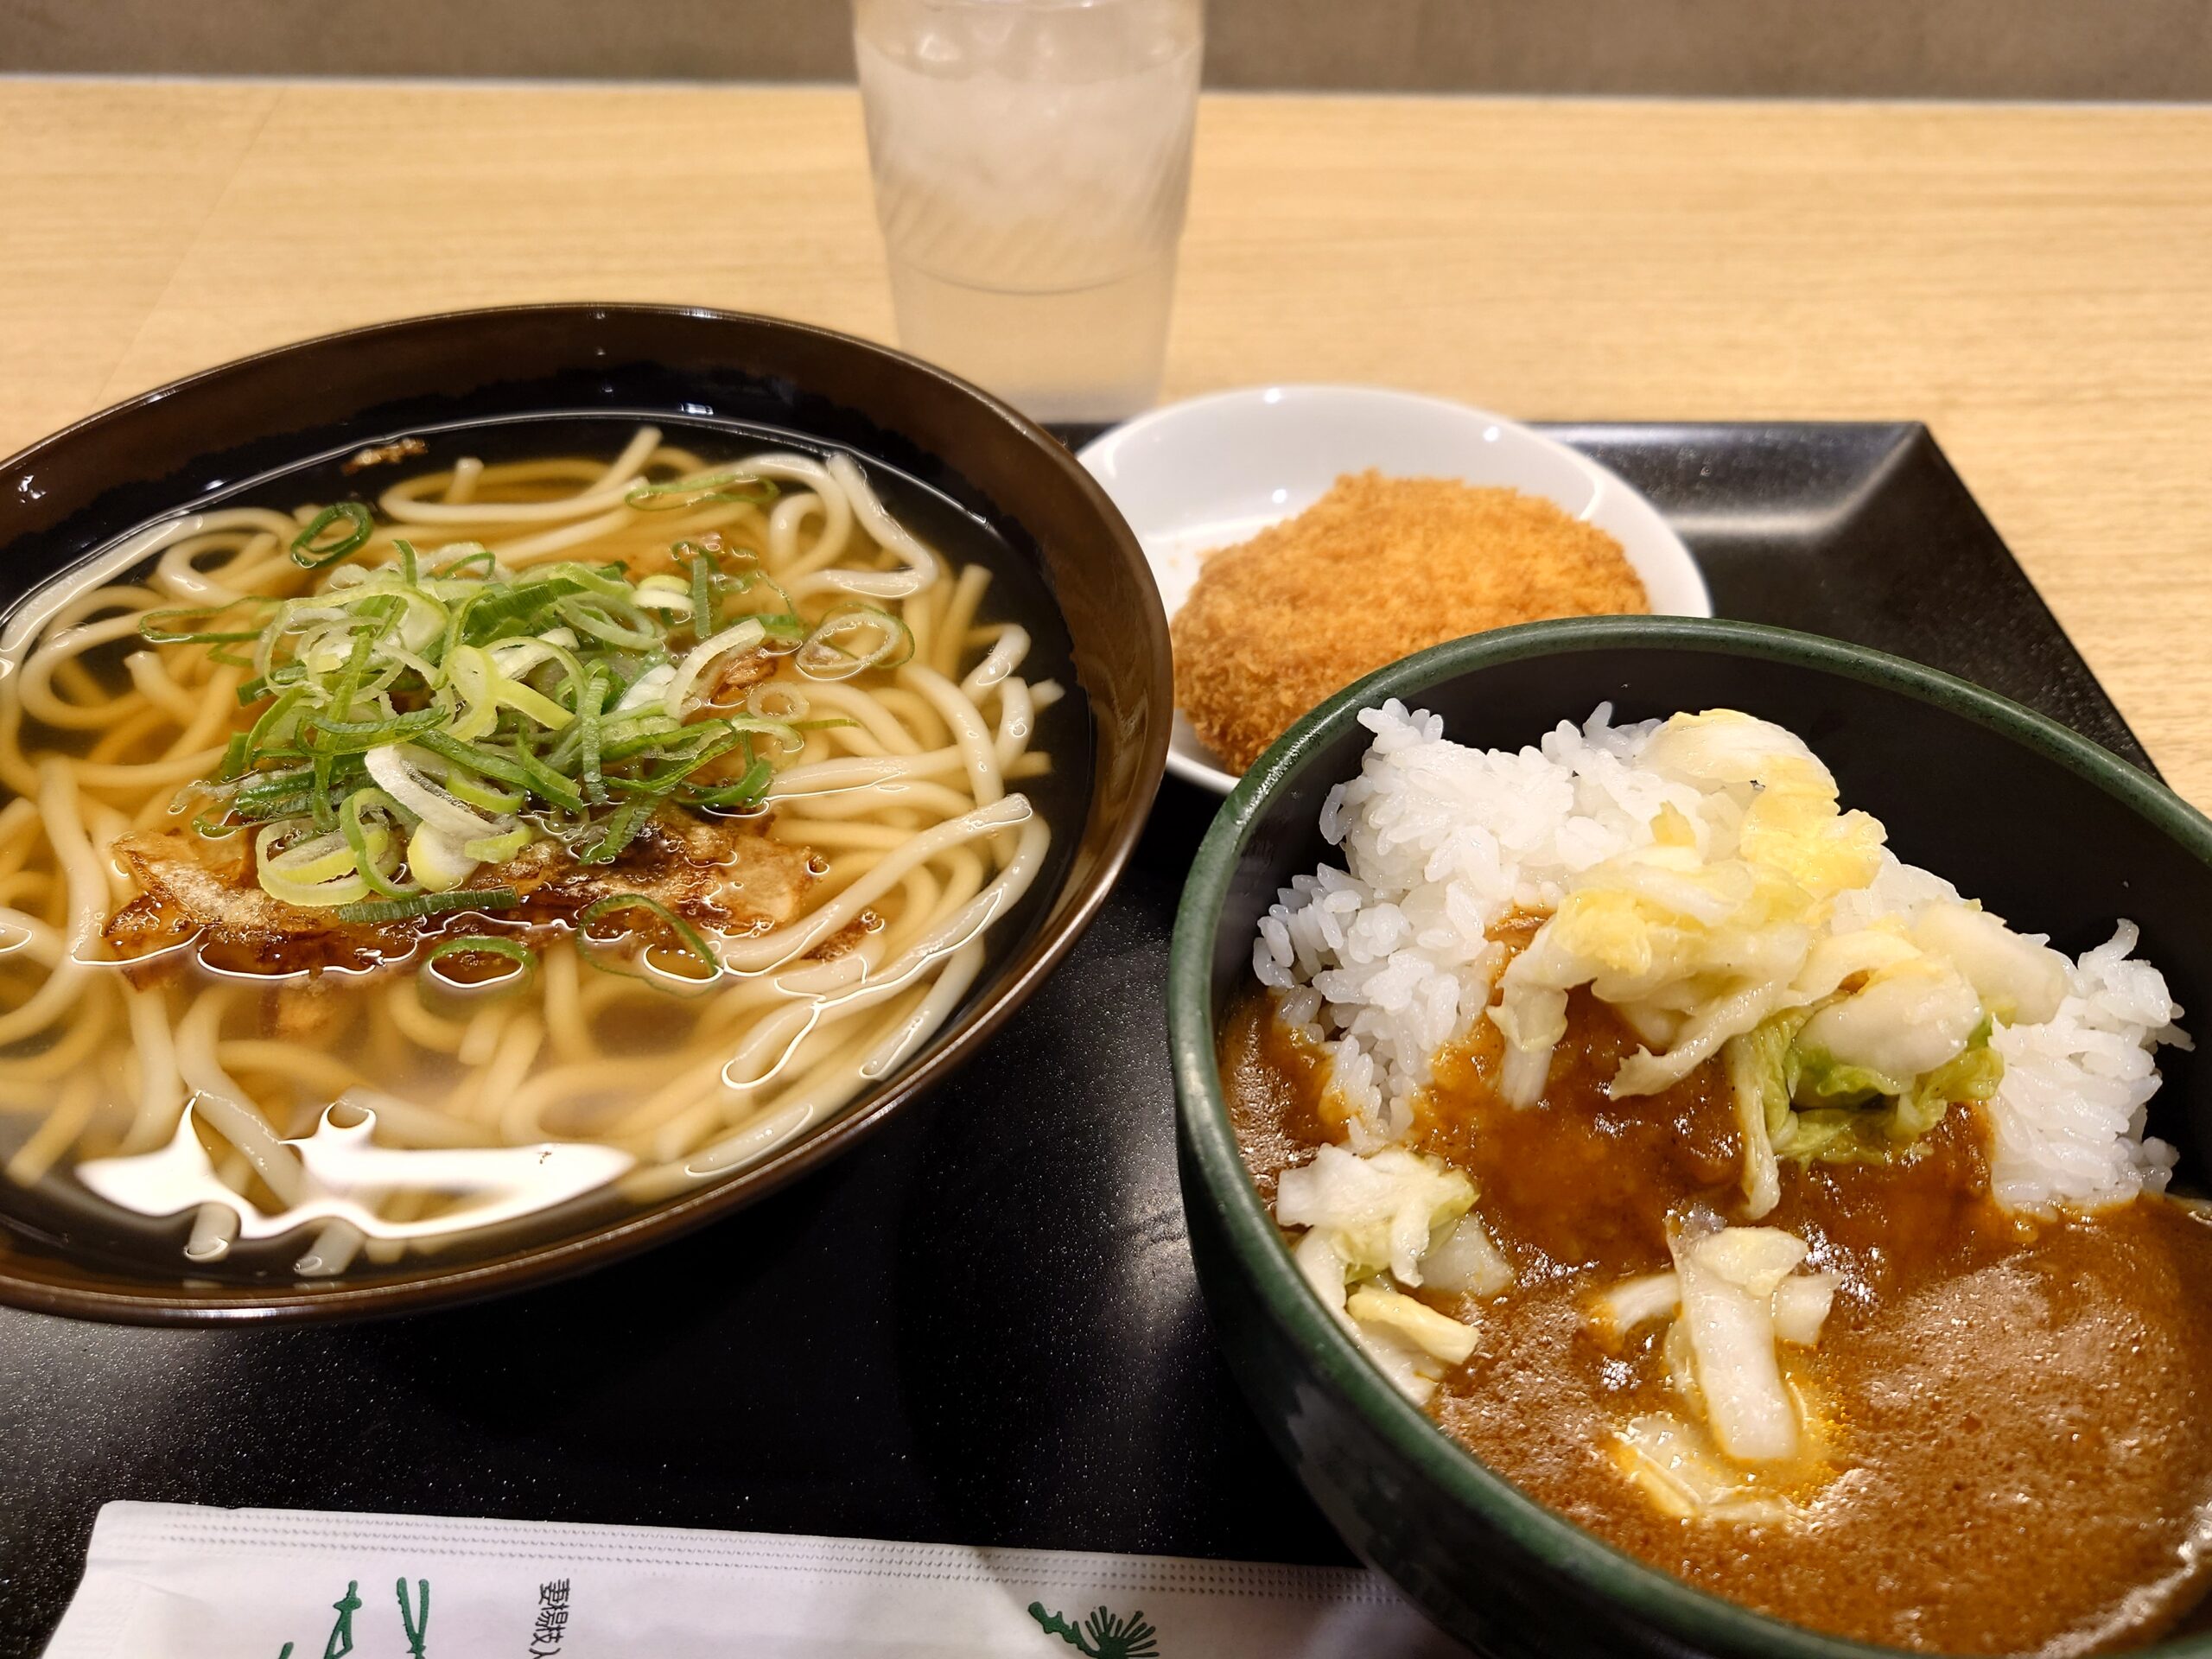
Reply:
M1486 1033L1486 1035L1484 1035ZM1741 1221L1741 1144L1717 1064L1650 1099L1604 1079L1635 1037L1579 995L1544 1099L1502 1104L1486 1022L1438 1064L1416 1139L1467 1170L1513 1261L1493 1301L1431 1296L1480 1343L1429 1411L1537 1502L1765 1613L1931 1652L2104 1652L2170 1630L2212 1562L2212 1221L2141 1199L2048 1225L1986 1197L1982 1121L1953 1106L1902 1164L1783 1166L1763 1217L1843 1276L1807 1363L1838 1473L1792 1526L1670 1520L1606 1455L1674 1405L1648 1332L1608 1354L1582 1301L1668 1265L1670 1212ZM1336 1139L1327 1064L1239 1002L1221 1044L1254 1181Z

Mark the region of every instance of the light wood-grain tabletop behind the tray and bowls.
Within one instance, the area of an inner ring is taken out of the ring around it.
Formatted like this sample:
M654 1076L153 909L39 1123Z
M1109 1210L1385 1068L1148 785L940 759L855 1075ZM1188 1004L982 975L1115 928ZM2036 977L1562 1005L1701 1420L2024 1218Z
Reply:
M847 88L0 80L0 453L451 305L891 336ZM2212 108L1208 97L1168 396L1920 418L2212 807Z

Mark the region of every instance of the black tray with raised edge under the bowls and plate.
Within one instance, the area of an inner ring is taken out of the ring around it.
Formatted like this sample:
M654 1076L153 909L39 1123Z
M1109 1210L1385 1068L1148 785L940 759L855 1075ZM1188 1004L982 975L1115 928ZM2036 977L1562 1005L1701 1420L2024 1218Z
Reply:
M1721 615L1916 657L2150 765L1924 427L1553 431L1659 504ZM931 1104L648 1256L383 1325L0 1310L0 1657L44 1644L115 1498L1349 1559L1183 1248L1159 987L1214 805L1168 781L1097 925Z

